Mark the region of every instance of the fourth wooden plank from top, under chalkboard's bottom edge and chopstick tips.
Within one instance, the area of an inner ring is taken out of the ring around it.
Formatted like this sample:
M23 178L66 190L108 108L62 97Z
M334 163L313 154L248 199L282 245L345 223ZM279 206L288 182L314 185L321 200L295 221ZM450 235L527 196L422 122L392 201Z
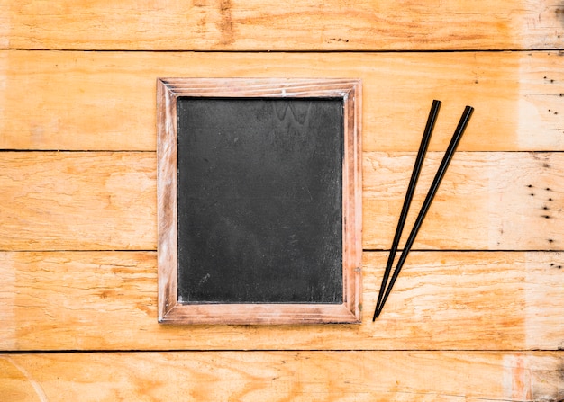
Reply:
M412 252L372 322L387 253L365 253L361 325L158 323L154 252L1 253L0 350L556 350L564 254Z

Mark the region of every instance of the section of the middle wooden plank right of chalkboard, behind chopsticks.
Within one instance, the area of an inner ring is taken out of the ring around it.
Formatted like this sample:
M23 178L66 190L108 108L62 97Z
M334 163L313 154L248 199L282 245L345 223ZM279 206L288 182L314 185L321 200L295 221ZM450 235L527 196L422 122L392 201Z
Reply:
M428 153L400 247L405 244L442 153ZM415 155L365 153L364 246L391 246ZM455 154L414 248L562 250L564 155Z

